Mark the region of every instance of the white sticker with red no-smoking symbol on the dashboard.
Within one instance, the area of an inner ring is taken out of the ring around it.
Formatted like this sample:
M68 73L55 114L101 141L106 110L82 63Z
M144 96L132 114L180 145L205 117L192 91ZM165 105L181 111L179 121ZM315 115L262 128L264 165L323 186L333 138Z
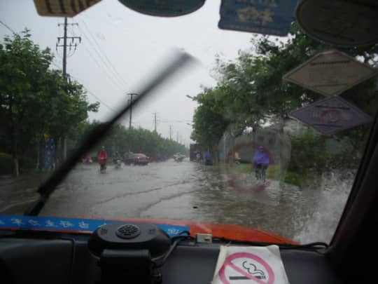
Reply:
M279 247L221 247L213 284L288 284Z

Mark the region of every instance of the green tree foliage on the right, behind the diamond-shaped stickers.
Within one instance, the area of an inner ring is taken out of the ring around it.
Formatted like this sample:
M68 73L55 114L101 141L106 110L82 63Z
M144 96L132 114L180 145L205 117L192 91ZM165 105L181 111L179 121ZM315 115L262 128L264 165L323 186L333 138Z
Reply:
M216 58L217 86L205 88L195 98L199 106L193 119L193 140L214 145L228 129L228 124L234 126L235 133L239 134L248 128L262 128L265 123L283 130L286 121L290 120L290 111L323 99L323 95L287 83L282 77L317 53L332 49L331 46L311 39L302 32L297 22L293 22L286 42L260 36L251 43L251 50L239 52L236 60L224 62ZM341 51L372 66L377 65L378 45ZM370 116L374 116L377 110L375 79L364 81L341 96ZM343 161L348 161L340 166L355 164L363 149L368 127L359 126L326 137L314 135L312 131L293 135L290 169L302 175L335 163L336 158L341 156L332 152L327 154L329 140L347 144L351 146L348 149L353 150L347 155L349 158L343 158Z

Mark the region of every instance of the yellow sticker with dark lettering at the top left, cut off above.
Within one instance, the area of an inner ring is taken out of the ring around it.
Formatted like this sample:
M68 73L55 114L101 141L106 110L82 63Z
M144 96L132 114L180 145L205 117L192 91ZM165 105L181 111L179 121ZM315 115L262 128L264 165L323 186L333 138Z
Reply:
M38 15L73 17L101 0L34 0Z

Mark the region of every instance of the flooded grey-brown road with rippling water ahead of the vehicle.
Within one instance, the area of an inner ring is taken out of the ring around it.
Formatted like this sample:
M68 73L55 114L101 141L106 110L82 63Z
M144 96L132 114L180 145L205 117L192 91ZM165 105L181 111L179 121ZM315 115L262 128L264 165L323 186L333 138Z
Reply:
M0 214L22 214L43 174L0 180ZM333 180L332 180L333 179ZM324 177L321 190L300 190L250 173L173 160L147 166L78 165L40 215L137 217L240 224L302 243L330 241L351 180ZM342 182L341 182L342 181ZM337 188L335 188L337 184Z

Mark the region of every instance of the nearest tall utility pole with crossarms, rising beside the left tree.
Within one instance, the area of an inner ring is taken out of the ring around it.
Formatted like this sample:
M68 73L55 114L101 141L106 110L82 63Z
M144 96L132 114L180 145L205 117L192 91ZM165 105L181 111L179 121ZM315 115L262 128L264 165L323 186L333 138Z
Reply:
M76 48L78 47L78 43L76 41L78 40L78 42L80 43L81 37L80 36L67 36L67 25L78 25L78 23L67 24L67 18L64 17L64 24L58 24L58 27L60 25L64 25L64 35L57 37L56 50L58 47L63 48L63 78L64 80L67 81L67 47L69 48L70 51L71 51L71 48L74 48L73 52L75 52ZM63 39L63 45L59 44L62 39ZM67 39L71 39L71 43L67 44ZM67 139L66 139L66 136L64 135L63 159L65 160L66 157L67 157Z

